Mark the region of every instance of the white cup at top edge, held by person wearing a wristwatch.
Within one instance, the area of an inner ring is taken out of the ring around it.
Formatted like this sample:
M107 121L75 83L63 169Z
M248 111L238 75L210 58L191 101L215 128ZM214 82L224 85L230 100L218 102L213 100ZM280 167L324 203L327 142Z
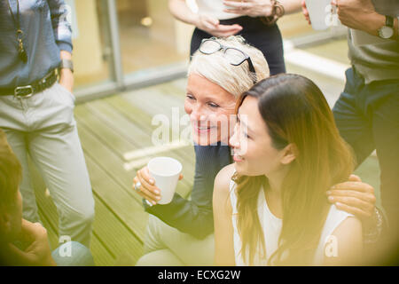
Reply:
M305 0L312 28L324 30L331 25L331 0Z

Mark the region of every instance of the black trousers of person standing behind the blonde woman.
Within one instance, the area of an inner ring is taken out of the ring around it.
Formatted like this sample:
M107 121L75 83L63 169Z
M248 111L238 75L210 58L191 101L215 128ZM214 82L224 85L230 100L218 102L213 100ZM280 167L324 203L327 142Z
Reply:
M220 24L239 24L243 29L236 36L244 37L247 43L262 51L269 64L270 75L286 73L283 39L276 24L266 26L262 23L262 20L259 20L259 18L251 18L248 16L229 20L220 20ZM212 37L212 35L207 34L199 28L195 28L194 33L192 34L190 54L192 55L199 49L202 39L210 37Z

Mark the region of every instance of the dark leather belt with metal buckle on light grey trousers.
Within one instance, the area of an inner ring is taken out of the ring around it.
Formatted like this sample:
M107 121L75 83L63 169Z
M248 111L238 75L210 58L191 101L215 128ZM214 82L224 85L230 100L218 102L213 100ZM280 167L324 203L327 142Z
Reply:
M42 79L37 80L35 83L19 86L16 88L9 89L0 89L0 96L15 96L18 98L29 98L32 97L35 93L44 91L50 88L53 83L55 83L58 79L57 68L51 70L47 75L45 75Z

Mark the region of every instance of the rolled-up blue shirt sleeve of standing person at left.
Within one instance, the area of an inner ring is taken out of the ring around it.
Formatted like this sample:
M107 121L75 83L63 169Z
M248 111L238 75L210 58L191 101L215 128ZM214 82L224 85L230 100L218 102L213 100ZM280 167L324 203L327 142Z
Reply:
M64 0L47 0L47 3L50 7L52 29L59 50L72 53L72 28L66 19L69 8Z

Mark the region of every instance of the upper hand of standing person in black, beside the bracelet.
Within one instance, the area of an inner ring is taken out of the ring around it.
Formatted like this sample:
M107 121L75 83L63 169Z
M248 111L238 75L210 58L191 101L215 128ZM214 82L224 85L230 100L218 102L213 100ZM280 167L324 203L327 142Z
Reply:
M273 13L273 2L271 0L223 0L225 6L223 12L231 12L249 17L269 17Z

